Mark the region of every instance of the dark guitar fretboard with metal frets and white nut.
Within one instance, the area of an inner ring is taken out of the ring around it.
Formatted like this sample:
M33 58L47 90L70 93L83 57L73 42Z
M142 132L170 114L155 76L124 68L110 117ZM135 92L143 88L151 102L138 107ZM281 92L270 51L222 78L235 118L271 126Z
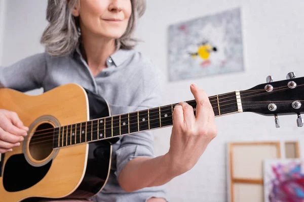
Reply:
M240 91L211 96L209 100L216 117L243 112ZM196 114L196 100L189 100L186 103L194 108ZM54 128L53 147L89 143L172 126L173 110L177 104Z

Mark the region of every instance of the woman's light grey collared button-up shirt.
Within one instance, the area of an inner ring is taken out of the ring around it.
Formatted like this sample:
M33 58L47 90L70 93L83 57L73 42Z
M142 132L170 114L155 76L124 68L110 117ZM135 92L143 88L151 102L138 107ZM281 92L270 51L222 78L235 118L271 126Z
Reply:
M10 67L0 68L0 87L22 92L42 87L48 91L63 84L77 83L102 95L109 103L111 115L161 106L163 81L161 71L149 59L134 50L123 49L112 54L107 59L107 68L95 77L79 48L65 57L41 53ZM154 157L153 132L126 135L113 144L110 176L104 189L93 198L94 201L143 202L150 197L166 198L164 186L127 193L117 180L130 160Z

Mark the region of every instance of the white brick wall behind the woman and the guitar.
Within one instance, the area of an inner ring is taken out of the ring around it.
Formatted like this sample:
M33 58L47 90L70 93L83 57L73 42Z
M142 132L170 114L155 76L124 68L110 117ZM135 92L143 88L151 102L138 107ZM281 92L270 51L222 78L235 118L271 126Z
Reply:
M46 4L46 0L7 1L3 65L43 51L39 39L46 27ZM236 7L242 9L245 72L167 83L164 105L193 99L191 83L214 95L248 89L265 82L268 75L275 80L285 79L289 71L304 76L302 0L147 1L137 30L137 36L145 42L138 49L167 75L168 25ZM302 146L304 128L297 128L295 120L296 116L280 117L281 128L277 129L273 117L252 113L217 118L218 136L198 164L168 183L171 201L226 201L226 142L288 139L299 140ZM169 149L170 134L171 127L156 130L157 155ZM304 149L301 156L304 157Z

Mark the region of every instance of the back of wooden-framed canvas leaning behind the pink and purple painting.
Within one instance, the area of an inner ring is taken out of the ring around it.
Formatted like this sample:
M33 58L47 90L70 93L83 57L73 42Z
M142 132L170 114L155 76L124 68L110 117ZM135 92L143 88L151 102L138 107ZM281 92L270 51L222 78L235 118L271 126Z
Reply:
M229 201L263 201L263 161L281 158L280 145L280 141L228 144Z

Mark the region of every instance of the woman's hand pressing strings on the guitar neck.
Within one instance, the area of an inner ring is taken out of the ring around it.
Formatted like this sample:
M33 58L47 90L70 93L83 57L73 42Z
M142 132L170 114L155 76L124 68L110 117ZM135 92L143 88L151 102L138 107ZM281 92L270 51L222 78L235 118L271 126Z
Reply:
M187 103L179 103L173 111L173 128L167 156L173 175L181 175L192 169L204 153L209 142L217 135L215 116L206 93L191 85L196 102L194 109Z

